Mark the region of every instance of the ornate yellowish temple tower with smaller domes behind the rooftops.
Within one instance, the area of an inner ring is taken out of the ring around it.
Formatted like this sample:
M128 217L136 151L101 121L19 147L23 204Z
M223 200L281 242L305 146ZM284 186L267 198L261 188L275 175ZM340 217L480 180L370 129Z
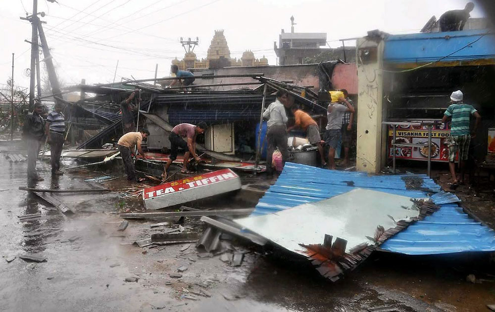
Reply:
M179 69L187 68L221 68L229 66L265 66L268 65L268 59L263 55L256 58L254 53L247 50L242 57L231 58L227 39L223 30L215 30L215 35L211 39L206 58L199 60L194 52L186 52L184 58L179 60L177 57L172 60L172 65L177 65Z

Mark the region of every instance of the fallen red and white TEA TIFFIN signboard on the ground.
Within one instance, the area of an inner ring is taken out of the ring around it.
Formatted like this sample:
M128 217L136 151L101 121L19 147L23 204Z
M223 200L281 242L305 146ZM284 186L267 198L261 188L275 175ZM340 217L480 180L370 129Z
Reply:
M238 190L241 179L230 169L208 172L143 190L147 209L160 209Z

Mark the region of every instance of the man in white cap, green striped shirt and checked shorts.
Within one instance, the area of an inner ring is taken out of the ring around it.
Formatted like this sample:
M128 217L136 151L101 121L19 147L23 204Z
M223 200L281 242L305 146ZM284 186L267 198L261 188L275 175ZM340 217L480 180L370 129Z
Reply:
M481 116L472 105L462 102L462 92L460 90L452 92L450 95L450 104L444 113L442 122L446 122L449 117L452 118L450 126L450 143L448 145L448 166L452 175L452 185L464 183L465 164L468 158L469 143L471 138L476 136L476 129L481 121ZM476 117L474 129L470 132L471 115ZM459 151L460 178L455 175L455 155Z

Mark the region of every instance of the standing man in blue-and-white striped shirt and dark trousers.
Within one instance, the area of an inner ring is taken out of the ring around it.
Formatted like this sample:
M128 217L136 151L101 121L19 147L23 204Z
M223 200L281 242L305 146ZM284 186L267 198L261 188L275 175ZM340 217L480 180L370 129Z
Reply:
M65 118L62 113L63 106L60 102L55 104L55 110L47 117L45 132L50 144L51 174L63 174L60 171L60 154L62 154L65 132Z

